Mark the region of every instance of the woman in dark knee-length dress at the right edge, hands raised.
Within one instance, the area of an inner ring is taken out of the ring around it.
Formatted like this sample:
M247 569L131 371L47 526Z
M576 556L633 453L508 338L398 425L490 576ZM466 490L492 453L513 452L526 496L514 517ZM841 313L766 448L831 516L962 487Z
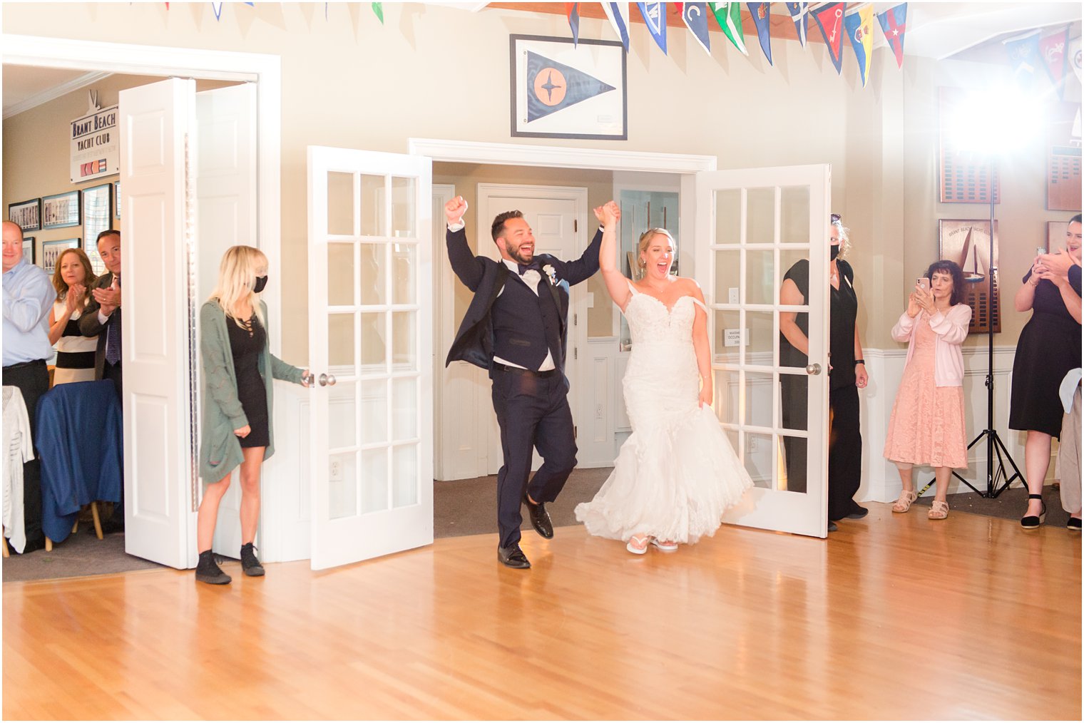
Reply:
M1077 214L1069 222L1066 244L1066 253L1077 267L1080 233ZM1061 436L1058 387L1070 370L1081 365L1081 323L1070 312L1075 307L1080 313L1080 273L1051 273L1036 257L1016 295L1017 311L1032 311L1017 341L1009 401L1009 429L1028 432L1023 448L1028 512L1020 520L1025 530L1038 528L1046 518L1043 481L1050 464L1050 439Z

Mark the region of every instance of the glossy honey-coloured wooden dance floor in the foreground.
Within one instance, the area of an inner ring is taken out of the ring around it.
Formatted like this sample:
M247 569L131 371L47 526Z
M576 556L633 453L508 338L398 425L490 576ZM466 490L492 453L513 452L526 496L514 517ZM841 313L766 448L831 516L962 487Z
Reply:
M674 554L559 528L224 588L3 585L4 719L1081 718L1081 538L872 504Z

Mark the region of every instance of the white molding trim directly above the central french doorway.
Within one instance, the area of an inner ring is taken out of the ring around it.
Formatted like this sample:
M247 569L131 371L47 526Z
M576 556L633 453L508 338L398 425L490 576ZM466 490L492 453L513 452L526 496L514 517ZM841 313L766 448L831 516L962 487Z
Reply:
M555 168L603 168L614 171L654 171L661 173L697 173L715 170L715 156L694 156L643 151L607 151L549 145L482 143L430 138L406 140L411 155L429 156L434 160L478 163L495 166L546 166Z

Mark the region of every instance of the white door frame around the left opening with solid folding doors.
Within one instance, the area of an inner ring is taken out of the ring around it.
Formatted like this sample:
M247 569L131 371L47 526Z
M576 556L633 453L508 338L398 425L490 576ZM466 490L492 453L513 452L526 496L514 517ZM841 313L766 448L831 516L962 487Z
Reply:
M137 46L94 40L73 40L25 35L0 35L0 62L12 65L36 67L74 68L102 73L120 73L142 76L164 76L201 78L207 80L234 80L257 83L257 158L259 171L259 238L260 249L268 257L268 270L273 277L282 277L281 259L281 186L282 172L282 59L278 55L237 53L231 51L199 50L194 48L168 48L163 46ZM282 335L282 285L272 284L263 295L270 312L271 351L281 352ZM179 302L179 301L178 301ZM198 418L194 409L196 400L191 400L190 413ZM193 440L195 441L195 440ZM283 446L285 447L285 446ZM193 444L193 454L197 444ZM264 465L263 476L278 481L278 469L288 468L288 454L283 450L282 459ZM278 462L279 464L274 464ZM195 459L185 460L191 469L197 468ZM185 476L188 477L188 475ZM198 477L191 475L190 500L192 512L199 500ZM266 489L276 489L276 485ZM275 495L266 495L263 519L270 519L283 506ZM195 539L195 522L192 522L192 539ZM278 552L272 540L268 546L270 554L264 559L275 559ZM190 566L195 565L196 550L189 545Z

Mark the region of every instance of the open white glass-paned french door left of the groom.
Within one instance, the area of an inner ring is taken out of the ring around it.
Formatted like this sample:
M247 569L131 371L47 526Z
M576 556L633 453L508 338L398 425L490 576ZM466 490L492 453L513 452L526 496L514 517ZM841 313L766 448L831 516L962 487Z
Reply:
M431 177L309 146L314 570L433 542Z

